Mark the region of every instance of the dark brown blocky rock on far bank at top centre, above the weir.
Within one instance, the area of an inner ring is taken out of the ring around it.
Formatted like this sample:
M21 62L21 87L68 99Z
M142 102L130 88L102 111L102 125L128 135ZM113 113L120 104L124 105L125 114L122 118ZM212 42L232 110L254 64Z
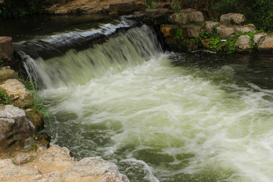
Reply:
M134 12L134 1L112 3L109 5L110 14L127 14Z

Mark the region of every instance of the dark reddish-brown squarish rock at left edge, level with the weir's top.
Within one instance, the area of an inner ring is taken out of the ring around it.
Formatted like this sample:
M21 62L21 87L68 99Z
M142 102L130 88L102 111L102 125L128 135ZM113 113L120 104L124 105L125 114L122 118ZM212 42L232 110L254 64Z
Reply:
M12 37L0 36L0 60L12 60Z

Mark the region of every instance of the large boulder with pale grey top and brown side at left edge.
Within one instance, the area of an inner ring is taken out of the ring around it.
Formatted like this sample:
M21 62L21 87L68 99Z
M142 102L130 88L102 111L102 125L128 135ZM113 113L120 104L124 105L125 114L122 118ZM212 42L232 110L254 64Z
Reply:
M0 147L25 140L34 133L35 127L23 110L12 105L0 107Z

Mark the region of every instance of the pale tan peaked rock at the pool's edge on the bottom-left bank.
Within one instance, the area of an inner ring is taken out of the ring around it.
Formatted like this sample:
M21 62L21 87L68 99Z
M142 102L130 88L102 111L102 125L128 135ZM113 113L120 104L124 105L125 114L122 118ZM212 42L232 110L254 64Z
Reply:
M52 145L40 158L41 162L55 162L62 165L71 165L75 162L72 153L66 147Z

